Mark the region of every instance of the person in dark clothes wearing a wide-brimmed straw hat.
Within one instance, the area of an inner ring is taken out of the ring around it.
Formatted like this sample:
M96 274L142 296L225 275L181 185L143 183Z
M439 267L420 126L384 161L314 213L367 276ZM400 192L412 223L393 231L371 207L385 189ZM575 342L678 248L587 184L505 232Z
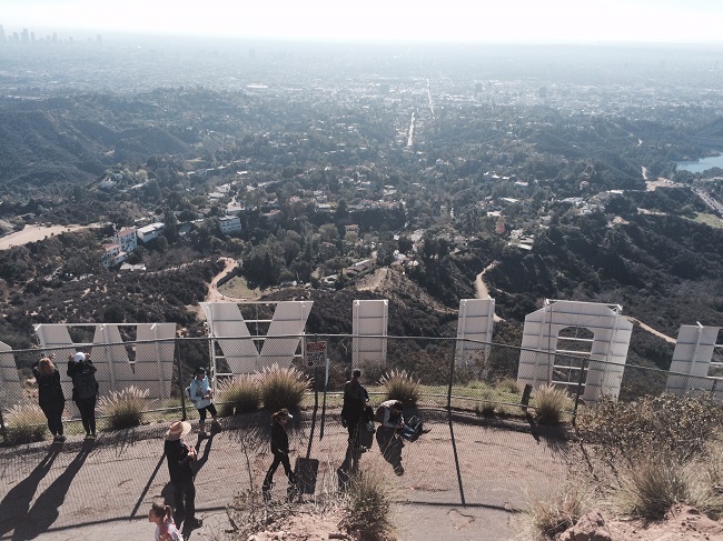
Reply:
M196 518L196 485L192 469L196 449L181 440L190 431L191 424L188 421L172 422L166 432L164 444L168 474L174 485L176 515L179 522L184 522L184 529L200 528L202 524L202 521Z

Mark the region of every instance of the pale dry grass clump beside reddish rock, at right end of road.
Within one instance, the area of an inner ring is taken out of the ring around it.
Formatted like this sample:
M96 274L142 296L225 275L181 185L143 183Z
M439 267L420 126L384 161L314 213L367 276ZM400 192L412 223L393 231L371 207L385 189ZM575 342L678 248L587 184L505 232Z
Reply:
M566 483L553 494L527 500L533 528L552 539L575 525L587 511L590 494L582 485Z

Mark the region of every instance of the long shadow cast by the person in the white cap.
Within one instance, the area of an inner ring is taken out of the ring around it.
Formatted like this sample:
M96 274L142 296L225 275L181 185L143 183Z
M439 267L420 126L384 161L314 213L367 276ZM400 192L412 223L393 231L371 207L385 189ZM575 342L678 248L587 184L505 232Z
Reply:
M32 508L28 511L27 517L17 525L12 533L13 541L34 539L50 529L52 523L58 519L58 509L65 502L72 480L80 471L80 468L82 468L92 448L93 444L91 441L83 442L80 451L72 459L72 462L38 497Z

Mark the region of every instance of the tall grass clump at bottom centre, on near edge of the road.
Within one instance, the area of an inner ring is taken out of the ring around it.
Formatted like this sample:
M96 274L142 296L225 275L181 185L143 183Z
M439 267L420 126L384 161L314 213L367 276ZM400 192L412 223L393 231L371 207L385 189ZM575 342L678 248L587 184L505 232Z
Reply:
M385 475L376 470L355 475L343 500L340 528L356 534L360 541L392 538L393 489Z

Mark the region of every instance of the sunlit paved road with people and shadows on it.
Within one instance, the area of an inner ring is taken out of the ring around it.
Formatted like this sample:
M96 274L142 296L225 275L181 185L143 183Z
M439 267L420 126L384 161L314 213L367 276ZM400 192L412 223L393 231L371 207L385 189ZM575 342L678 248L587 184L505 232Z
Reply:
M267 423L250 428L245 421L240 429L231 422L226 419L227 430L199 445L197 505L205 524L191 533L194 540L229 539L226 507L238 491L248 489L247 458L255 484L260 484L269 462ZM518 518L515 510L525 505L524 494L564 477L567 451L556 440L518 430L455 424L467 504L463 507L449 428L444 422L429 425L430 433L405 448L402 478L392 474L378 451L373 449L363 458L363 469L386 468L396 484L396 524L402 539L514 539L518 528L511 524ZM172 495L160 458L165 429L165 423L153 424L101 434L96 443L76 437L62 448L39 443L0 450L0 540L152 539L153 529L147 522L150 502ZM294 430L293 458L306 452L308 432L307 421ZM334 472L346 443L345 431L336 424L327 425L320 442L318 433L317 428L311 451L320 460L317 493L334 490ZM279 491L283 484L278 483Z

